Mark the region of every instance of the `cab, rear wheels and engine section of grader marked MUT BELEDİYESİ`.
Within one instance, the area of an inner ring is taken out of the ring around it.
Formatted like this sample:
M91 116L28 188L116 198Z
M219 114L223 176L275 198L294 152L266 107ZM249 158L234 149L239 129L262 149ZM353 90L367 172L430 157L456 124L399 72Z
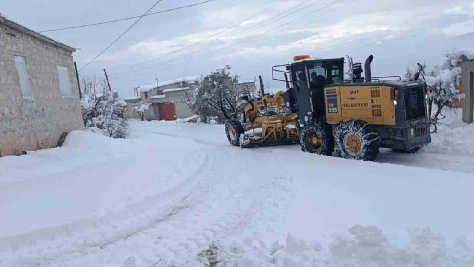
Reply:
M294 60L273 66L273 74L283 72L292 87L286 106L297 110L302 151L374 160L379 147L414 152L431 142L423 82L372 77L372 55L365 77L362 64L355 63L349 80L344 80L344 58ZM282 79L273 75L273 80Z

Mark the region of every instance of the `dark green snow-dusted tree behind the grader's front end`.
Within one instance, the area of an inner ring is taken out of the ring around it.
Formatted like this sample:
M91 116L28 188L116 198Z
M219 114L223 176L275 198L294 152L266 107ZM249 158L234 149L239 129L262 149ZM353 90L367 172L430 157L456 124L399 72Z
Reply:
M186 92L184 102L199 115L201 121L207 122L210 116L217 115L219 120L228 120L232 114L241 110L240 98L249 95L250 98L258 95L257 90L247 91L237 88L238 76L231 76L230 66L212 71L201 76L200 85Z

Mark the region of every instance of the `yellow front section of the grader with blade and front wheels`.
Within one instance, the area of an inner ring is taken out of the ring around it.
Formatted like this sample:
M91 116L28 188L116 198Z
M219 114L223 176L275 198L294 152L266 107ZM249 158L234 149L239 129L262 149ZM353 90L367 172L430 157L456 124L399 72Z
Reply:
M246 100L239 117L229 119L225 124L228 141L241 148L295 144L300 139L298 115L292 112L290 93L279 91L273 95Z

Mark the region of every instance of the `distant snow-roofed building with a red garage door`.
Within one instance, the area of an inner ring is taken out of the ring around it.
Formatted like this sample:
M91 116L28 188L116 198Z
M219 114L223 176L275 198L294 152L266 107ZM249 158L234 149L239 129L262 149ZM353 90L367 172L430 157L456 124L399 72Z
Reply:
M146 120L175 120L190 117L193 113L182 100L186 98L185 91L197 84L199 84L199 76L140 86L138 88L139 96L125 98L128 116L139 118L133 110L133 105L144 101L150 103L150 107L145 113Z

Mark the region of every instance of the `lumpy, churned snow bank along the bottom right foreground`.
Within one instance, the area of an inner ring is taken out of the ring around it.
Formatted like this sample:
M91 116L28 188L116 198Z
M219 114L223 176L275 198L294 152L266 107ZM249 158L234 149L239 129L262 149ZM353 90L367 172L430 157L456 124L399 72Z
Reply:
M448 247L443 235L426 227L409 229L403 239L407 241L398 244L397 237L389 238L377 226L354 225L347 234L335 233L327 240L304 240L288 234L283 242L249 246L245 240L226 240L211 243L206 250L212 249L213 258L222 266L467 267L474 262L474 243L465 238Z

